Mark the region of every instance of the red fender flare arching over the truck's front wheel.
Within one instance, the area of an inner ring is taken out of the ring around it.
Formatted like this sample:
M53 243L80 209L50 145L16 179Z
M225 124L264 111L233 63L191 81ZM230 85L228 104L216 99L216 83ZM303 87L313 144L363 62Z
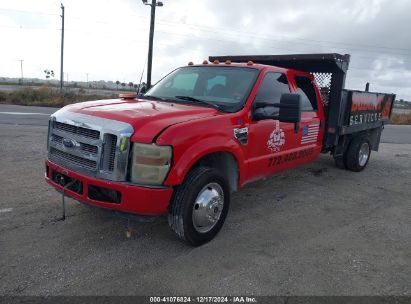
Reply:
M165 181L166 185L179 185L195 163L208 154L216 152L228 152L237 161L239 169L239 185L246 176L245 155L240 144L232 138L225 136L211 136L203 138L189 148L175 147L175 163Z

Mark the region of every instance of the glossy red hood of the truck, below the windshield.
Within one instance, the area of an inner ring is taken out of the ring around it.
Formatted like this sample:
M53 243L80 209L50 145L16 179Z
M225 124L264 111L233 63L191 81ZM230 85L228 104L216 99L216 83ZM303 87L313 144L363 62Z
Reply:
M218 115L213 108L142 99L111 99L67 106L66 111L125 122L134 129L132 141L151 143L167 127Z

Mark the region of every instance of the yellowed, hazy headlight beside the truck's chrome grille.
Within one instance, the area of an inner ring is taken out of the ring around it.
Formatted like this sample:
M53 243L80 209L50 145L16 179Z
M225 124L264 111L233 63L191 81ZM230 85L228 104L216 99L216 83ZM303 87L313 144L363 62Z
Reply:
M172 154L170 146L133 143L131 181L161 185L170 170Z

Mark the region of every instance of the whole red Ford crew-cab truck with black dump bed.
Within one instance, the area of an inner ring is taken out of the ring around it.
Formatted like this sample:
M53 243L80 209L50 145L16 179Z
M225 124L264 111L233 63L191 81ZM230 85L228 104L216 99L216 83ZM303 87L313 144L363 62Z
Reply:
M364 169L395 95L344 90L349 59L216 56L138 97L66 106L50 117L46 181L63 200L168 213L178 237L201 245L247 183L326 152Z

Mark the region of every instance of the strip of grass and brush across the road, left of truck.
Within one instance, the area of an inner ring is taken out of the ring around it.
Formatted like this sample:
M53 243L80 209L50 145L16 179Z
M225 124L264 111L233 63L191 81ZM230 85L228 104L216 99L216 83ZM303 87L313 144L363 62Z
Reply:
M23 88L13 92L0 91L0 103L24 105L24 106L44 106L44 107L62 107L68 104L110 99L116 95L88 95L83 90L77 92L63 91L59 89L42 86L40 88Z

